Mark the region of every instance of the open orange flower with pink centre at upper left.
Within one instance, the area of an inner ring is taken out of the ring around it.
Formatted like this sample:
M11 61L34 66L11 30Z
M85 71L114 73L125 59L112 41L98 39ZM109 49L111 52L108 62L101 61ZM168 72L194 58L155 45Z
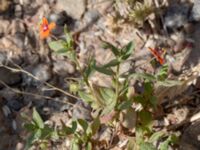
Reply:
M50 35L51 30L56 27L54 22L48 23L46 18L42 18L42 23L40 24L40 38L45 39Z

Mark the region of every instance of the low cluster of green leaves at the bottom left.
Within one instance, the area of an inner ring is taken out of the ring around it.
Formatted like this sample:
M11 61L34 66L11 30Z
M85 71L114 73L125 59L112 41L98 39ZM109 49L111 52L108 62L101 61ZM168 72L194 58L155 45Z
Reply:
M87 150L92 149L91 138L96 134L100 127L99 118L88 123L83 119L72 121L72 126L69 127L61 120L62 127L60 129L47 125L42 120L41 116L35 108L33 108L32 121L24 125L25 129L30 132L25 149L29 149L32 145L38 146L42 150L49 149L50 141L56 141L62 138L73 135L71 150L79 150L80 145L84 145ZM82 130L78 130L78 125Z

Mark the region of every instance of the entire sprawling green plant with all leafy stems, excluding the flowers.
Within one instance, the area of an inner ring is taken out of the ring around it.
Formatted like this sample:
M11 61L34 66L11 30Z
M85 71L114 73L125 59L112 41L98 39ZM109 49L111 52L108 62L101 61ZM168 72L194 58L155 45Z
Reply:
M167 135L164 132L153 131L153 113L157 108L157 99L154 94L155 84L163 86L173 86L177 82L167 80L167 66L164 65L160 72L155 75L148 73L120 73L120 66L133 53L133 42L128 43L122 48L117 48L114 45L104 42L104 48L110 49L115 56L111 61L104 65L97 65L94 58L90 57L85 69L80 67L78 57L73 49L73 40L70 34L65 30L66 39L58 40L49 43L49 46L58 54L67 56L80 72L81 78L70 82L69 90L86 103L90 104L96 113L92 123L85 120L77 119L72 122L72 127L66 126L62 122L61 129L50 128L44 125L39 114L34 110L33 122L26 125L26 128L32 132L28 145L35 143L44 143L48 140L59 139L61 137L72 136L72 150L78 150L85 147L88 150L93 149L93 136L97 133L101 126L100 117L116 112L112 117L112 121L119 121L119 115L123 110L127 112L134 111L137 115L136 125L134 128L135 138L130 139L129 149L149 149L154 150L155 141L162 140L159 145L160 150L167 150L168 145L175 142L175 136ZM99 72L109 76L112 79L110 87L102 87L91 83L90 77L94 72ZM141 94L129 96L130 81L136 78L143 84L144 91ZM134 110L133 104L140 104L140 111ZM111 121L110 120L110 121ZM82 127L82 130L77 129L77 125ZM45 146L43 146L45 147ZM157 146L158 147L158 146Z

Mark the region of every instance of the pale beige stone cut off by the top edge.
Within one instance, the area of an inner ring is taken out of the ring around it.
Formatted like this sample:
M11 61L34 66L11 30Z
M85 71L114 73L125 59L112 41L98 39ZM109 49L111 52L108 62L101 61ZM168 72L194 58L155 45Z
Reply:
M74 19L80 19L86 9L85 0L58 0L56 3L57 10L64 10Z

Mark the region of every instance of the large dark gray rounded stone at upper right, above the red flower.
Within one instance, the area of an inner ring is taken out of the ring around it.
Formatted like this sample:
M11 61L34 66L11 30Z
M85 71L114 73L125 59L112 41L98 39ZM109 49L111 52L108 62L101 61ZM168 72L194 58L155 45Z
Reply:
M189 6L174 4L170 6L164 16L164 25L169 28L179 28L188 21Z

